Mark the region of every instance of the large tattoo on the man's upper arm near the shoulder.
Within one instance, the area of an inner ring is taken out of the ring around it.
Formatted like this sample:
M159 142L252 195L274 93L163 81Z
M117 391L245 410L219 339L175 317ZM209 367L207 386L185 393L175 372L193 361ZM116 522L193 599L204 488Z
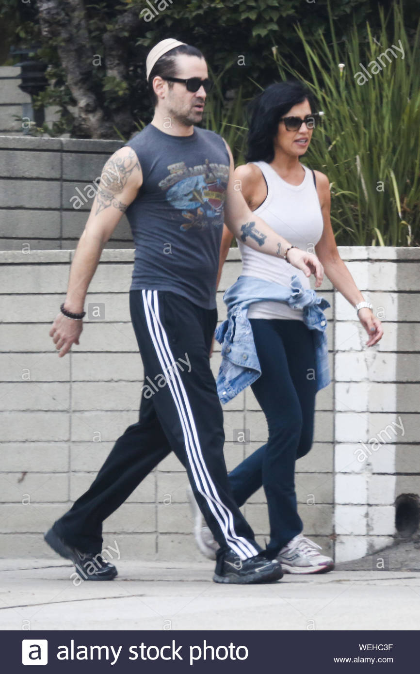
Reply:
M113 155L109 158L102 170L100 181L96 183L98 185L96 194L98 208L96 208L95 215L98 215L105 208L109 208L109 206L114 206L121 212L125 212L128 204L120 202L117 195L123 191L129 176L136 169L140 171L140 163L136 152L131 148L124 157Z

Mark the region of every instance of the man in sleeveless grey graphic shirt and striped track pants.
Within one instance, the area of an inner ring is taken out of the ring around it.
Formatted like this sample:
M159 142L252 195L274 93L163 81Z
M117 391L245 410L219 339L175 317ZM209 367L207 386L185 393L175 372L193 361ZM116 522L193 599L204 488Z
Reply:
M152 122L104 165L100 189L71 264L69 286L50 335L59 356L79 344L88 285L121 214L136 246L129 306L144 364L138 423L130 425L88 491L45 534L89 580L117 575L104 561L102 522L171 450L187 470L193 495L220 545L215 582L274 582L281 567L266 559L235 505L223 458L223 417L210 369L217 321L216 276L223 221L251 247L287 255L322 280L316 256L289 249L253 217L233 186L233 158L222 138L194 126L210 82L200 51L168 38L148 54ZM110 181L111 175L111 181ZM115 175L115 179L112 177ZM288 250L289 249L289 250Z

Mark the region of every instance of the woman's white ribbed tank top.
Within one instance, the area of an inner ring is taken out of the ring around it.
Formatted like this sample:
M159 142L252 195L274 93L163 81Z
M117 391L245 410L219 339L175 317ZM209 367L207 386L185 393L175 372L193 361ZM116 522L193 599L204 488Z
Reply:
M250 163L261 169L267 183L266 199L253 213L291 244L314 253L324 225L312 171L301 164L305 169L303 181L300 185L289 185L270 164L262 161ZM243 276L256 276L289 287L293 274L296 274L303 288L311 287L309 278L285 259L253 250L240 239L237 239L237 244L242 257ZM303 312L291 309L284 302L256 302L249 306L248 318L303 320Z

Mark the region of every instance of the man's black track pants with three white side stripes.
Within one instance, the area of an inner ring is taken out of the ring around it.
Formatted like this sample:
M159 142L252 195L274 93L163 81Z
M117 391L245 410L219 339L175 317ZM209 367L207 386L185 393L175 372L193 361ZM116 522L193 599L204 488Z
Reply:
M103 520L172 450L220 547L253 557L261 548L229 485L222 408L210 369L217 310L167 290L130 290L129 306L146 386L139 421L117 439L88 491L54 528L80 551L99 552Z

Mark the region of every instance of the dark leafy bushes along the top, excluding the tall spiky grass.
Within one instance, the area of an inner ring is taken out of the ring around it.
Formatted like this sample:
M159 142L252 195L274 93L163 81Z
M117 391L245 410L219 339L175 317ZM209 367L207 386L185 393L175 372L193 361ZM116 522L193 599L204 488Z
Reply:
M386 6L392 3L392 0L380 1ZM405 1L408 5L413 4L415 9L417 0ZM39 42L42 48L38 57L47 61L49 67L59 69L61 63L55 40L44 40L40 35L36 0L31 3L0 0L0 3L3 17L0 18L0 30L4 28L3 34L6 35L3 53L0 44L0 63L3 58L3 63L9 65L7 49L11 44L28 47L33 42ZM303 58L301 40L293 29L296 22L300 22L307 35L318 28L329 33L327 0L260 0L258 3L255 0L167 0L167 5L167 9L158 11L158 16L152 21L146 21L144 10L149 7L146 0L84 3L90 47L92 53L102 58L102 65L92 67L90 86L108 117L112 118L115 107L123 102L133 119L150 121L152 109L146 92L144 63L153 44L168 36L194 44L203 51L215 73L224 71L220 84L223 92L241 86L243 96L249 98L255 91L251 80L267 86L278 74L271 58L274 42L290 65L296 67L299 59ZM365 19L371 18L371 26L378 24L377 7L378 0L335 0L332 18L338 39L346 35L349 16L353 16L363 39L366 34ZM117 29L121 16L133 10L140 17L140 26L133 28L127 22L124 28ZM106 75L102 38L110 30L117 30L119 36L127 41L128 87L118 80L111 81ZM241 65L243 58L239 63L239 57L244 57L245 65ZM17 60L14 59L13 63ZM229 61L232 61L231 67L225 69ZM49 104L50 100L50 104L60 105L60 98L66 130L73 134L73 121L67 109L71 98L67 83L61 77L52 78L42 100L45 104Z

